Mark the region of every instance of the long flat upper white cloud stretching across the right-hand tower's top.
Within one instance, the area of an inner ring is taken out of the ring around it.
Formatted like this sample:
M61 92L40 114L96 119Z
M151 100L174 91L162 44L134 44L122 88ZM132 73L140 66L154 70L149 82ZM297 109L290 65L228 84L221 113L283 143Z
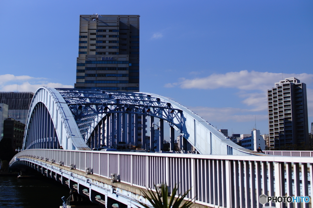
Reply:
M217 88L238 88L241 90L262 90L274 87L275 82L282 80L281 73L271 72L228 72L226 74L212 74L208 77L185 79L181 78L178 82L172 83L183 89L217 89ZM313 74L284 74L284 78L296 77L301 82L312 83ZM169 85L166 85L169 86Z

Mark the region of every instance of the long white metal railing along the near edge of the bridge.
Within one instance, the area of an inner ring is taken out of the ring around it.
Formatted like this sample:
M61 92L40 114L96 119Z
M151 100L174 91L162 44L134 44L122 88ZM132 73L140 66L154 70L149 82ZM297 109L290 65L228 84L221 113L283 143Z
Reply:
M110 178L120 175L121 182L141 188L164 183L179 185L177 194L191 190L188 199L209 207L263 207L259 196L309 196L313 182L312 157L230 156L140 152L102 152L71 150L25 150L20 160L42 160L76 170L91 168L94 175ZM15 158L12 159L12 164ZM312 200L310 200L312 203ZM266 206L292 207L289 203ZM264 206L265 206L264 205ZM302 207L309 207L303 203ZM313 206L312 206L313 207Z

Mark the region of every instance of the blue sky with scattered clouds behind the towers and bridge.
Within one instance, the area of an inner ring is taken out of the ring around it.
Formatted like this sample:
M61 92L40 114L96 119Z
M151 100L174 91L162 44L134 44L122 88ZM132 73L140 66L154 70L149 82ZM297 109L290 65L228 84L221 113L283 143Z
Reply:
M79 15L93 13L141 16L141 92L229 133L250 133L256 118L263 134L266 90L296 77L313 121L312 1L2 0L0 91L73 87Z

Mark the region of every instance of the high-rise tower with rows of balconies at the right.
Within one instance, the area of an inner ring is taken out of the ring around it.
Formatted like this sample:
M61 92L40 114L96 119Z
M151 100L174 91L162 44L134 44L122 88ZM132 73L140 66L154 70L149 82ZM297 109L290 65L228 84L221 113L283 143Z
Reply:
M268 106L269 148L284 150L309 144L305 83L295 77L275 83L268 90Z

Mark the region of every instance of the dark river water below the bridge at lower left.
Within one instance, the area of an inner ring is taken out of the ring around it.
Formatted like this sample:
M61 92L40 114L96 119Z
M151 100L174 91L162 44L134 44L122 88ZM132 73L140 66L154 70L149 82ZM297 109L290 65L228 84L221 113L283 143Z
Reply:
M0 208L59 208L69 188L49 178L0 177Z

